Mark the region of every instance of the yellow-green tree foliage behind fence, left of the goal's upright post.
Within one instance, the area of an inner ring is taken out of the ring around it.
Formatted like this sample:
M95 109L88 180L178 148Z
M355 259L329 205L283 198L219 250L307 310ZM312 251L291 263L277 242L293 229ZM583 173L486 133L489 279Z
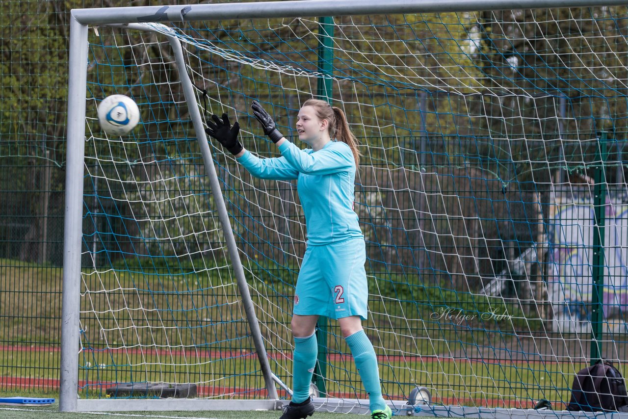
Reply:
M29 3L34 10L24 13L24 2L4 2L0 16L0 147L45 158L44 150L63 149L67 15L65 4Z

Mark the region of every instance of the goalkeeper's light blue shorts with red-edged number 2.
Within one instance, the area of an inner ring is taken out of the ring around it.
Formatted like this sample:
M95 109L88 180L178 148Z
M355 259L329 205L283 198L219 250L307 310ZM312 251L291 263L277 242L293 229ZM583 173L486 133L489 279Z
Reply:
M366 246L358 237L311 246L296 281L294 313L330 318L367 318Z

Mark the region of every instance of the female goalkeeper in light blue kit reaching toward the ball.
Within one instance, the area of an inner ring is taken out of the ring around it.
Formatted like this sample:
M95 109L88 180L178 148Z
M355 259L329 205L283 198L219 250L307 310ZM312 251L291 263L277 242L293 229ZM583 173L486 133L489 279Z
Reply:
M239 124L230 126L213 115L207 134L217 139L258 178L298 180L297 191L305 212L307 249L296 283L294 315L293 396L280 419L311 416L310 382L317 360L315 326L319 316L336 318L369 394L373 419L390 419L391 408L382 398L377 358L362 330L367 316L368 286L365 243L354 205L357 140L344 112L327 102L310 99L296 121L299 139L311 149L300 150L279 133L273 118L253 101L252 109L266 134L281 152L279 158L260 159L238 141Z

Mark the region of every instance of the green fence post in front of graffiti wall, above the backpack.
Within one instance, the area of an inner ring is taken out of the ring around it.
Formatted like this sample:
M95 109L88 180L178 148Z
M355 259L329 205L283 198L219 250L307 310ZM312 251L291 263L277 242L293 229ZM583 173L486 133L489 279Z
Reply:
M602 357L602 327L604 322L604 224L606 217L605 162L608 155L606 133L602 131L596 148L597 166L593 173L593 292L591 296L591 364Z

